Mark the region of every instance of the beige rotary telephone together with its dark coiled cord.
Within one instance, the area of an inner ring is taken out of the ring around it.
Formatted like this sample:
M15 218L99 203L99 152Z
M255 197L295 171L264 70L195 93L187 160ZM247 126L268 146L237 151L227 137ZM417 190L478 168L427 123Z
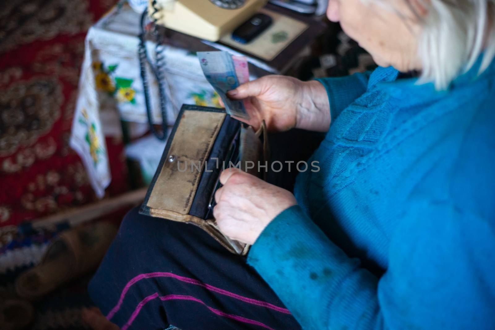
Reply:
M163 74L164 47L157 26L162 25L172 30L215 42L222 35L231 32L245 22L266 2L267 0L149 0L148 9L141 15L138 53L149 129L157 139L167 139L166 86L164 86ZM154 23L151 33L156 45L155 63L152 63L153 61L149 58L145 47L147 17ZM153 125L147 66L157 83L162 116L161 132L157 131Z

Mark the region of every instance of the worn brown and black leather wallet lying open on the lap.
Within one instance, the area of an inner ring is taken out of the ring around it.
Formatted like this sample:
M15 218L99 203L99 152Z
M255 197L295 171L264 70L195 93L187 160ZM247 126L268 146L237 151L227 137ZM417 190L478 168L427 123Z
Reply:
M258 164L268 161L267 145L264 122L254 132L224 109L183 105L140 213L194 224L232 253L247 254L247 244L223 235L216 226L214 194L224 168L240 164L248 173L266 175Z

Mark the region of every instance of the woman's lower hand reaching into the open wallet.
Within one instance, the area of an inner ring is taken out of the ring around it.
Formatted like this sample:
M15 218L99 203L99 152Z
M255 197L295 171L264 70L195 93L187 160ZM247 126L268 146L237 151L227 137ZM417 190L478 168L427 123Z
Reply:
M220 182L213 216L222 233L244 243L253 244L279 213L297 204L290 191L237 168L223 171Z

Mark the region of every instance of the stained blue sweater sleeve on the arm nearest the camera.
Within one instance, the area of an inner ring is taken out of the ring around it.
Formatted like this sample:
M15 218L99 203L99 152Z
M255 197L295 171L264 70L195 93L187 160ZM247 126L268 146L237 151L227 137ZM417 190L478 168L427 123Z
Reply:
M414 217L397 225L380 278L299 206L267 226L248 263L305 330L490 329L495 233L489 222L449 203L417 206Z

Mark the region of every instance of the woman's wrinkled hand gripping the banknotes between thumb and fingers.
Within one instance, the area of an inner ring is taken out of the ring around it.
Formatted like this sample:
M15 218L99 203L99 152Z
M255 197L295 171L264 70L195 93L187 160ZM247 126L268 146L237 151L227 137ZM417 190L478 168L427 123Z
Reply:
M237 119L255 130L263 119L271 131L301 128L326 132L330 127L327 92L317 81L302 82L286 76L265 76L247 82L227 95L233 99L245 99L251 119Z

